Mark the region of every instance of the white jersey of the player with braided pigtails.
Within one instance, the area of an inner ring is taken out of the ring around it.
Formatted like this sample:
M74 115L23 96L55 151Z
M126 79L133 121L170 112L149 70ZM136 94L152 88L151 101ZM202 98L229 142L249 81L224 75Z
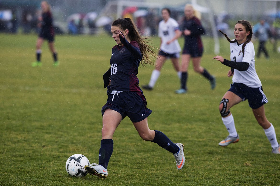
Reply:
M244 56L242 53L242 46L243 44L238 46L237 42L230 43L230 60L235 62L247 62L249 63L249 68L245 71L239 71L234 69L232 82L242 83L252 88L261 87L262 83L255 69L254 45L252 42L246 44L244 49Z

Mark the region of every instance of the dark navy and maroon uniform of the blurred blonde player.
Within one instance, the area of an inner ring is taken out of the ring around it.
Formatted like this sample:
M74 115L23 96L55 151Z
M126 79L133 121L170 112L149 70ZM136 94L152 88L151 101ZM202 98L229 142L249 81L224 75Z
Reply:
M185 45L182 54L190 54L192 57L201 57L203 53L202 40L200 35L205 34L200 20L192 17L190 20L184 19L181 31L190 30L190 35L185 35Z

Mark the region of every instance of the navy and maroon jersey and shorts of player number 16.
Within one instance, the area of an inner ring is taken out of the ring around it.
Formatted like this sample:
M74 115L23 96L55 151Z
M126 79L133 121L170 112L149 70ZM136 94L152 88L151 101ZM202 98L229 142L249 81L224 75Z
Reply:
M111 85L107 87L108 99L102 107L102 116L110 108L120 113L122 118L129 116L132 122L139 122L152 112L146 107L146 98L137 78L142 54L136 41L129 43L122 37L120 41L123 46L112 48L109 69Z

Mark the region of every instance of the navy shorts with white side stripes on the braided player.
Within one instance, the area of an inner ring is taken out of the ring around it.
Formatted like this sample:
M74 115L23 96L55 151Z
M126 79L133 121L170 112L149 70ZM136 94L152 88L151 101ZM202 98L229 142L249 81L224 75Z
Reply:
M228 90L239 96L242 101L248 99L249 106L252 109L260 108L263 104L267 103L268 100L263 93L262 87L251 88L242 83L233 83L230 85Z

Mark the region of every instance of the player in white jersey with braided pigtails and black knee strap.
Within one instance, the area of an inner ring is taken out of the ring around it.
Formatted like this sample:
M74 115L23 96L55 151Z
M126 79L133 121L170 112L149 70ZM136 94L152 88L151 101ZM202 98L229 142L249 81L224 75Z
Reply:
M221 30L220 32L224 34ZM229 133L228 137L222 140L219 145L228 146L239 141L230 108L248 99L256 120L264 129L265 135L271 143L272 153L280 154L274 127L265 116L264 104L268 100L263 93L262 83L255 69L255 49L251 42L253 35L251 24L246 20L238 21L234 27L234 40L230 40L226 34L224 35L230 42L230 60L221 56L215 56L213 59L231 67L231 70L228 71L228 77L233 76L233 83L223 96L219 106L222 121Z

